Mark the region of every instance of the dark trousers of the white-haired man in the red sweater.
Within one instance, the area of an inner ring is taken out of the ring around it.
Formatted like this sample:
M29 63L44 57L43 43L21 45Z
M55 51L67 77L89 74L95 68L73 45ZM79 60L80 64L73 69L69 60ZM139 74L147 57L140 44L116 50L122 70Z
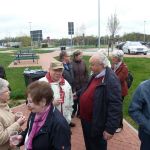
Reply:
M91 123L81 119L86 150L107 150L107 141L101 136L91 137Z

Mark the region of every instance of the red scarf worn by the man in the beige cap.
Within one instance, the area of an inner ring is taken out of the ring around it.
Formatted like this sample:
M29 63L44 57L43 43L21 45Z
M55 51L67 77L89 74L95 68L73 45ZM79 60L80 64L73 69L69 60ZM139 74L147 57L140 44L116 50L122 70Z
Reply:
M47 78L47 80L48 80L49 83L55 82L55 81L52 80L49 72L46 74L46 78ZM62 113L63 113L62 104L64 103L65 92L64 92L64 90L62 89L61 86L64 85L64 84L65 84L65 79L61 76L61 78L59 80L59 93L60 93L60 98L63 101L61 103L61 112Z

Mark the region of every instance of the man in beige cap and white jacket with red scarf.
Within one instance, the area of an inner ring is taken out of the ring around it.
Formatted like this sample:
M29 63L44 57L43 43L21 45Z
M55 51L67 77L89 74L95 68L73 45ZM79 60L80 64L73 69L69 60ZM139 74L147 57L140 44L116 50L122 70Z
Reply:
M73 95L70 84L63 78L63 64L59 61L52 61L49 67L49 72L40 81L49 82L53 92L53 105L62 112L68 124L71 122Z

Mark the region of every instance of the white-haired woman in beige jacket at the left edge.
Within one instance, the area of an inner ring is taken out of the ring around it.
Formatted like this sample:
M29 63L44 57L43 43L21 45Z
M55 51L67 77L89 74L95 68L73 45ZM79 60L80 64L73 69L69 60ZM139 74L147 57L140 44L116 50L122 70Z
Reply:
M0 150L11 150L9 135L12 131L19 131L25 122L24 116L16 119L8 106L10 98L8 86L8 81L0 78Z

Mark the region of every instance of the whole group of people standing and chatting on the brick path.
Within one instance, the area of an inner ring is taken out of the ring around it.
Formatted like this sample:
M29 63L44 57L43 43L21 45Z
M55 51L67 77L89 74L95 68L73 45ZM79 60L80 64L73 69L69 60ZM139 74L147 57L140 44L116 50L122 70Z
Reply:
M25 145L25 150L70 150L74 116L81 119L86 150L106 150L107 141L123 129L122 105L128 94L128 67L123 56L121 50L114 50L110 63L106 54L98 51L89 59L89 73L81 51L73 53L72 61L66 51L61 51L60 60L51 62L46 76L27 87L27 106L31 114L27 128L15 137L16 145L10 140L9 146L9 134L12 130L19 131L25 117L16 119L10 111L8 82L0 79L0 150L21 145ZM142 120L142 114L135 110L142 109L143 99L148 98L140 92L141 88L149 92L148 86L149 82L137 89L129 109L134 119L139 115L137 122L143 123L140 133L145 134L149 132L149 116ZM142 139L143 134L140 135Z

